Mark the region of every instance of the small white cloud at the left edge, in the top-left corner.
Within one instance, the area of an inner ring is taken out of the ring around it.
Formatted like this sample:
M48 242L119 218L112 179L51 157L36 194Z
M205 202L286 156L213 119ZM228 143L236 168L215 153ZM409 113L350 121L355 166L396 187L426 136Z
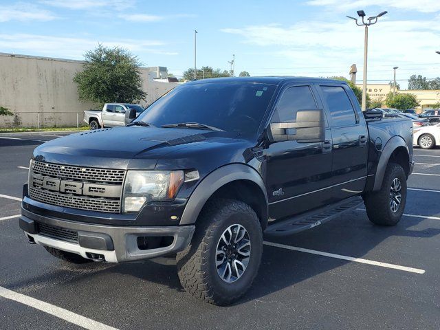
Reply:
M56 15L32 3L16 3L0 7L0 22L7 21L52 21Z

